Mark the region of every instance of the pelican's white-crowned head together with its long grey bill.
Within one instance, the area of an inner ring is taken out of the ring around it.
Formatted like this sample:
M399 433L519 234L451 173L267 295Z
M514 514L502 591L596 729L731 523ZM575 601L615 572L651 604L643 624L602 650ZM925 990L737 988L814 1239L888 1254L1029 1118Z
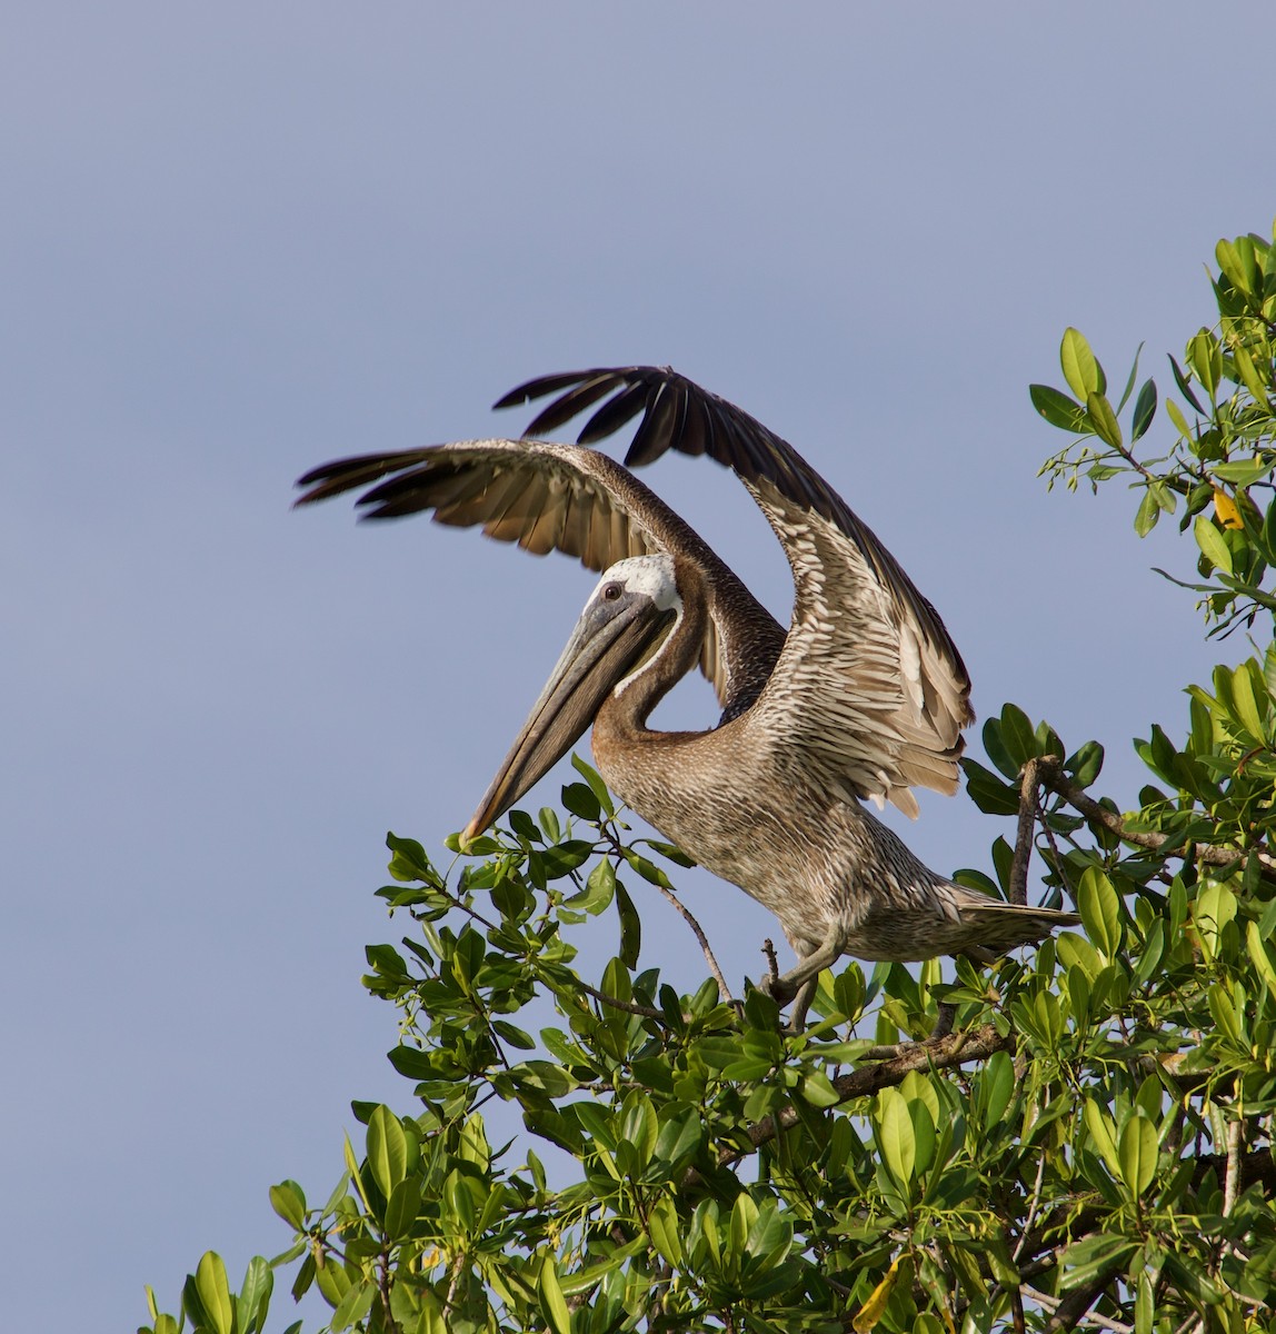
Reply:
M652 660L681 610L671 555L631 556L604 571L463 839L500 819L580 740L604 700Z

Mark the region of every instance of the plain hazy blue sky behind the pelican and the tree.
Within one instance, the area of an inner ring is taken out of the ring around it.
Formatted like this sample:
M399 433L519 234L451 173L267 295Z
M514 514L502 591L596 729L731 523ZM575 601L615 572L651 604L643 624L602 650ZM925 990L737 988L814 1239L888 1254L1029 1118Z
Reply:
M441 852L592 580L291 514L308 467L517 434L488 404L536 374L672 363L872 524L981 715L1097 736L1119 800L1129 736L1240 651L1148 572L1188 552L1129 498L1045 492L1063 438L1027 394L1067 324L1113 379L1145 339L1164 387L1215 240L1271 224L1260 95L1199 7L16 0L5 28L9 1327L133 1327L207 1247L241 1273L288 1241L271 1182L336 1179L351 1098L411 1109L359 984L404 930L385 830ZM725 472L645 480L787 615ZM715 716L701 683L669 710ZM932 798L907 836L951 870L1000 831ZM771 919L687 890L756 971Z

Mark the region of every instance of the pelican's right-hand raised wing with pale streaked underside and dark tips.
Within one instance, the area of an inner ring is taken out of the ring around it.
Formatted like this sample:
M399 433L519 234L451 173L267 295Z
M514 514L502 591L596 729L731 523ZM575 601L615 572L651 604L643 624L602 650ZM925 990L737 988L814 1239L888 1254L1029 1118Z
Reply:
M783 692L791 716L795 708L808 716L812 744L831 760L845 756L843 780L861 796L889 798L912 815L909 787L956 788L961 728L975 718L961 655L899 562L787 440L667 367L544 376L496 406L547 395L557 398L529 435L605 400L581 444L641 414L625 463L673 448L708 454L739 474L793 570L793 622L771 702L779 706Z

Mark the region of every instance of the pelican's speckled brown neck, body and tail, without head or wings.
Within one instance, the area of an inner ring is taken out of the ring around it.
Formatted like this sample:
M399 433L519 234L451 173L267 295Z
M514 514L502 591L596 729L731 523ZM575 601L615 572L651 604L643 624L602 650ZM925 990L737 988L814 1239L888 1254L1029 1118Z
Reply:
M603 704L595 759L608 786L665 838L769 908L799 958L837 936L841 952L861 959L985 959L1076 920L989 899L929 870L792 744L769 686L713 731L647 730L649 711L691 664L704 614L693 568L679 562L677 574L683 620L653 670Z

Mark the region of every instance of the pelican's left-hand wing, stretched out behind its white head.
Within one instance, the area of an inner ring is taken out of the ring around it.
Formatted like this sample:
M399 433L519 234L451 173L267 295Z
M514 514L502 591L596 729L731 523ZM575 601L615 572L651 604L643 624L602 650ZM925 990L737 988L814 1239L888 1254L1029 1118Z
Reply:
M312 504L372 486L365 519L433 511L436 523L481 526L536 555L563 551L603 571L627 556L667 551L704 575L709 619L700 668L735 716L757 698L784 643L776 619L705 542L615 459L571 444L460 440L337 459L307 472L296 502Z

